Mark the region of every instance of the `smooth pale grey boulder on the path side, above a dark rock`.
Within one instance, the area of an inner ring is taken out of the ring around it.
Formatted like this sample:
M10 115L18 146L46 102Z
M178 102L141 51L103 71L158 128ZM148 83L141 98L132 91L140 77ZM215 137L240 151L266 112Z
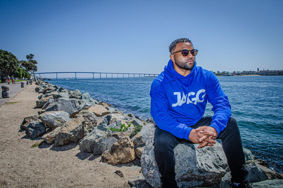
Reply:
M60 127L65 122L72 120L69 118L69 114L64 111L44 112L40 114L39 119L52 129Z

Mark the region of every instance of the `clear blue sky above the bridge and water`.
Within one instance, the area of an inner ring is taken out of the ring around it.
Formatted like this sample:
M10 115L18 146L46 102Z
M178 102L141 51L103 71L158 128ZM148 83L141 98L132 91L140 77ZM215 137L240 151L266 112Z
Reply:
M38 72L159 74L189 38L212 71L283 69L283 1L4 1L0 49Z

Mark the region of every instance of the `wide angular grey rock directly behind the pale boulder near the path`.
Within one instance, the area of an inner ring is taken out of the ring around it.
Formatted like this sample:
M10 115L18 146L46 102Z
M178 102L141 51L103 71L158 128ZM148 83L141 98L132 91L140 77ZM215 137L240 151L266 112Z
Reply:
M65 111L71 114L79 106L77 99L57 98L50 103L46 111ZM43 109L43 108L42 108Z

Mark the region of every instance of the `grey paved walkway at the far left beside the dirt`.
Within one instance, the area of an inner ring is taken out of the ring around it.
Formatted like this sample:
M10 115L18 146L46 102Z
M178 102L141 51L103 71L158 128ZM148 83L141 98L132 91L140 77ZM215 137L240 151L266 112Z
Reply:
M21 87L21 82L16 82L16 84L10 83L9 85L7 83L0 83L0 89L2 85L8 85L9 86L9 91L10 91L10 97L9 98L2 98L2 89L1 89L1 95L0 95L0 107L8 102L10 99L14 98L18 93L20 93L24 88L27 86L27 82L24 82L24 87ZM34 82L35 83L35 82ZM33 84L34 84L33 83Z

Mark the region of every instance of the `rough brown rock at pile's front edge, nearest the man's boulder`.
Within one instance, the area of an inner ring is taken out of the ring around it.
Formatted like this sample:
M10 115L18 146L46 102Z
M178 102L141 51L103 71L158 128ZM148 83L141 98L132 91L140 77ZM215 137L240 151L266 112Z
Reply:
M111 165L130 162L135 158L134 144L130 137L121 138L101 155L101 161Z

